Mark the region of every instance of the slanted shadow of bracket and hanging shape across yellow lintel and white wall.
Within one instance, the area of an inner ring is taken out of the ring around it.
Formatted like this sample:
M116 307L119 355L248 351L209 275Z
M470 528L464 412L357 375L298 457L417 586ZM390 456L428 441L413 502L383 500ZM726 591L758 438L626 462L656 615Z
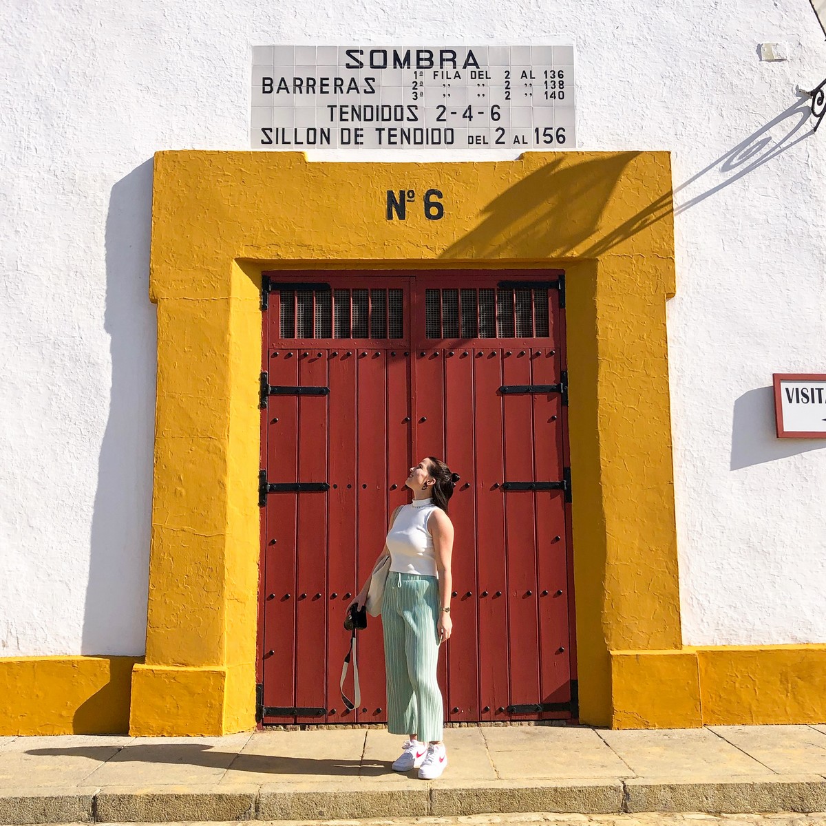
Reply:
M809 98L800 98L673 192L664 193L616 227L601 225L601 207L638 153L573 165L552 161L491 201L476 229L441 257L508 257L510 250L525 244L548 258L563 258L574 249L582 258L599 257L672 213L691 209L805 140L813 134L811 128L805 128L811 114Z

